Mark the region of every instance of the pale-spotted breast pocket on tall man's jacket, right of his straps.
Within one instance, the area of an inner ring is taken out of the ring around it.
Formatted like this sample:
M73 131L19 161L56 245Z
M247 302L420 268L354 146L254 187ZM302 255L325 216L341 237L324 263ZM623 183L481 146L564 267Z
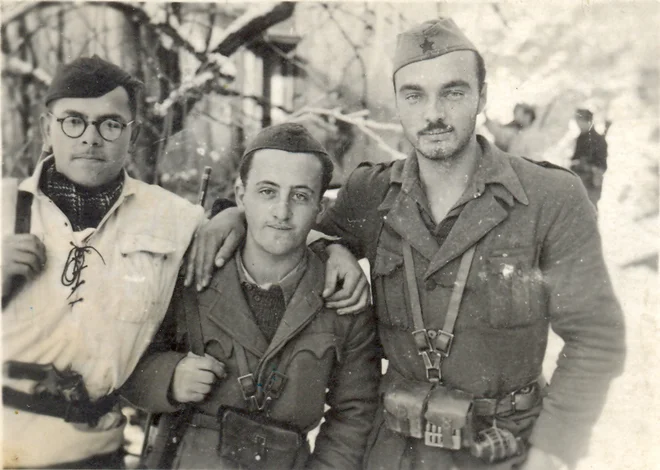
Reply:
M491 252L487 284L492 327L512 328L541 320L543 282L534 247Z

